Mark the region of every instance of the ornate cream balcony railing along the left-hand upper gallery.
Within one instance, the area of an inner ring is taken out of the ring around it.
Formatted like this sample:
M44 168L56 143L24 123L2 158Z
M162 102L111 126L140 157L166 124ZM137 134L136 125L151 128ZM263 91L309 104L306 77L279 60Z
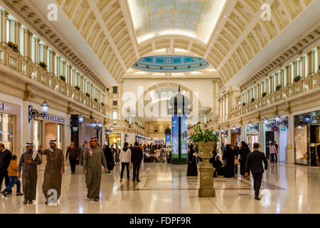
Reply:
M106 114L107 109L101 103L96 102L93 98L87 98L85 93L75 90L70 84L61 81L46 69L41 68L33 61L24 58L20 53L12 51L11 48L3 44L0 44L0 64L21 73L21 77L31 78L38 84L47 86L103 115Z

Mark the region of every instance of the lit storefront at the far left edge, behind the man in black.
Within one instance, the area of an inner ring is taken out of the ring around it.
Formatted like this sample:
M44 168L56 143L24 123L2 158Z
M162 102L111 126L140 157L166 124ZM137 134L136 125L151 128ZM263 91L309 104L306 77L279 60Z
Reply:
M21 105L0 100L0 142L14 155L21 154Z

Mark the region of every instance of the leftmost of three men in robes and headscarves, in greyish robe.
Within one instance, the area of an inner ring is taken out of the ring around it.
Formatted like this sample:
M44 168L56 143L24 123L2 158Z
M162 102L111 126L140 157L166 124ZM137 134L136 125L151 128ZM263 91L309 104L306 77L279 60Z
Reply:
M37 190L37 165L41 164L40 156L36 150L33 150L33 143L26 143L26 150L20 157L18 166L18 178L21 177L22 169L22 187L24 193L23 204L33 203L36 199Z

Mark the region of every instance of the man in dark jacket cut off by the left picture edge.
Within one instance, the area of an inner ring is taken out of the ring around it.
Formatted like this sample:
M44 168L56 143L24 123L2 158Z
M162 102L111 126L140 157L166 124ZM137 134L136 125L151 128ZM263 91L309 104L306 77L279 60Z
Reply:
M9 185L9 176L8 176L8 167L11 161L12 154L10 150L6 149L4 147L4 143L0 143L0 189L2 186L2 181L4 180L4 183L6 186ZM12 190L9 190L6 195L11 195Z

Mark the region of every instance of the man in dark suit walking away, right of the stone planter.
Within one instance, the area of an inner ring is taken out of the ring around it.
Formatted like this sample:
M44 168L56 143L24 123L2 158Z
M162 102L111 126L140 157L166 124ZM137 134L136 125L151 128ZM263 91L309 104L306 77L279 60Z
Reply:
M255 189L255 199L259 198L259 191L262 182L262 174L265 172L263 170L262 162L265 163L265 170L268 168L268 161L263 152L259 151L259 143L253 143L253 152L247 156L247 162L245 163L245 176L251 170L253 178L253 188Z

